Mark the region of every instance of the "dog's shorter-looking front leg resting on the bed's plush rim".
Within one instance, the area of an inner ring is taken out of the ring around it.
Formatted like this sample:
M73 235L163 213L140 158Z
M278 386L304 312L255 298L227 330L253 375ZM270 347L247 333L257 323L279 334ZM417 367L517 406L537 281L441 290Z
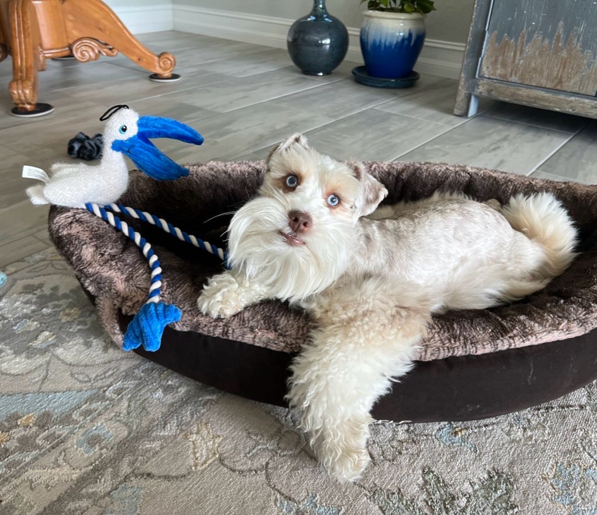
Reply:
M227 270L210 278L197 299L205 315L227 318L246 306L267 298L267 290L238 270Z

